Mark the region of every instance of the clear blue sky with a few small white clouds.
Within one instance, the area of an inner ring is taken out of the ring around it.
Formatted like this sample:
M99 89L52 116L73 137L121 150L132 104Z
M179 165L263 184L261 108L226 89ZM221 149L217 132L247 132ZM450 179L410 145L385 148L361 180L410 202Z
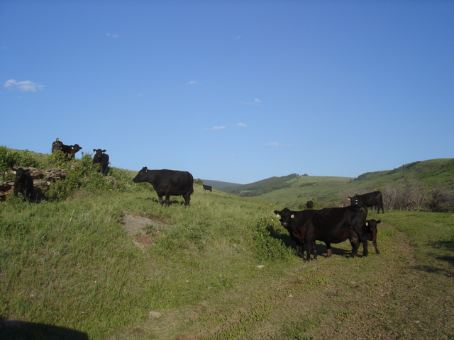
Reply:
M454 1L0 0L0 145L58 137L233 183L451 158L453 18Z

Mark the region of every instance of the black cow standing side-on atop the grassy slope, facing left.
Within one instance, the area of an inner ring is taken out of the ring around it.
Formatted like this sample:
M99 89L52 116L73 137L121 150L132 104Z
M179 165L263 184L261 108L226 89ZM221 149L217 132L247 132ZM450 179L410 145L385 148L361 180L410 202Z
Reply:
M133 179L134 183L148 182L157 193L159 203L162 204L162 196L165 203L170 205L170 196L183 196L184 204L189 205L191 195L194 192L194 178L187 171L176 170L148 170L143 167Z

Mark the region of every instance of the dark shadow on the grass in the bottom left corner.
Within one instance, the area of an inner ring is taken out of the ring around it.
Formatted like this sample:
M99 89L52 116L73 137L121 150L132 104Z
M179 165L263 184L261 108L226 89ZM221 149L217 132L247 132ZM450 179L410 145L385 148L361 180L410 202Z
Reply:
M8 340L89 340L86 333L57 327L51 324L37 324L9 320L0 317L0 339Z

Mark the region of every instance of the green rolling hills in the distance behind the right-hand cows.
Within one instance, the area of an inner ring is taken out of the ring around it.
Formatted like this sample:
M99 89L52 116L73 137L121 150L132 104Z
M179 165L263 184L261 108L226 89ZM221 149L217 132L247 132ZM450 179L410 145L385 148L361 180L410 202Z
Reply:
M220 190L270 200L289 208L301 208L308 200L314 200L316 208L324 208L348 204L348 196L355 193L382 191L387 187L409 186L410 183L454 190L454 159L413 162L392 170L368 172L356 178L291 174Z

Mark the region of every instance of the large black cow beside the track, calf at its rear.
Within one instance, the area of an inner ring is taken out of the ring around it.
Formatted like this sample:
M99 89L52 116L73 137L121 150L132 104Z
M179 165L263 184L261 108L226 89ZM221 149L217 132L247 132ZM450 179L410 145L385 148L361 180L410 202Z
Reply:
M331 257L331 243L341 243L349 239L353 231L356 239L352 242L352 254L358 252L361 239L360 228L365 225L367 214L364 209L358 206L346 208L325 208L321 210L302 210L292 211L282 210L282 226L288 225L291 237L295 237L299 242L306 244L306 261L311 259L311 251L314 250L314 259L317 258L315 241L325 242L327 257ZM292 236L293 235L293 236Z

